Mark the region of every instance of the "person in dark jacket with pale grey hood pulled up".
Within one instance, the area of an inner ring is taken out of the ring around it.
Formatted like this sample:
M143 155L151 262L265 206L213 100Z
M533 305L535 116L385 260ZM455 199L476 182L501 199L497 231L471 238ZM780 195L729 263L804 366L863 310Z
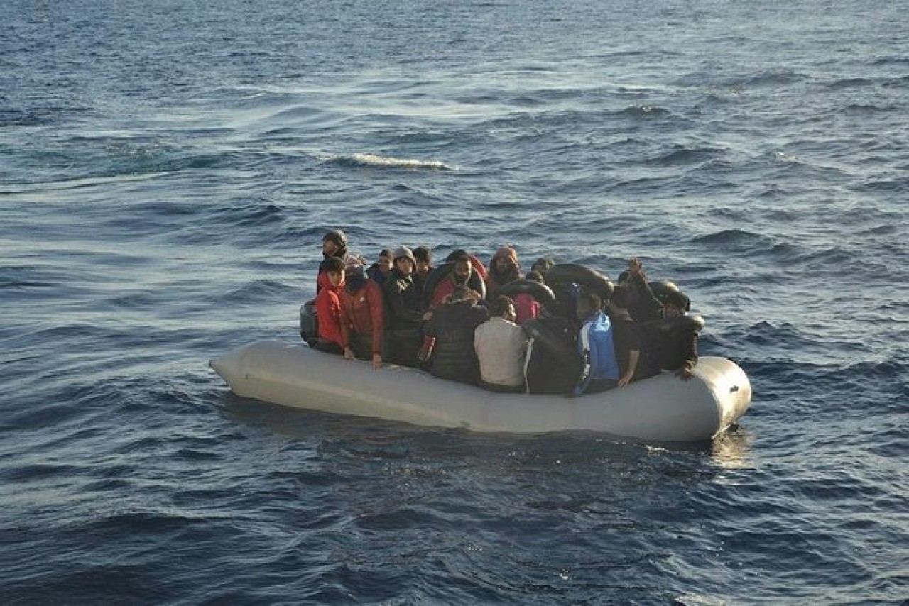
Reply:
M414 282L414 253L406 246L398 246L392 258L395 267L385 280L385 360L416 366L416 354L423 343L423 293Z

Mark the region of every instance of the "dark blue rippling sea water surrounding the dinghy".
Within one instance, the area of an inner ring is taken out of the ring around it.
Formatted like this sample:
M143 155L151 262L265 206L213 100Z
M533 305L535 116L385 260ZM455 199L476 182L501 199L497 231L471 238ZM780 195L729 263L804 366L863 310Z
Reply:
M0 0L0 602L909 598L909 2ZM712 443L233 395L325 231L690 294Z

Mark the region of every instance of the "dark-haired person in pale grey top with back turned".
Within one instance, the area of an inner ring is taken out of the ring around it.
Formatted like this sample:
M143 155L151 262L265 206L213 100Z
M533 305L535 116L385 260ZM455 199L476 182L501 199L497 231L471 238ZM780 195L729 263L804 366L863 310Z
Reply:
M489 315L474 330L480 386L490 392L523 393L527 335L514 323L514 301L504 294L495 297Z

